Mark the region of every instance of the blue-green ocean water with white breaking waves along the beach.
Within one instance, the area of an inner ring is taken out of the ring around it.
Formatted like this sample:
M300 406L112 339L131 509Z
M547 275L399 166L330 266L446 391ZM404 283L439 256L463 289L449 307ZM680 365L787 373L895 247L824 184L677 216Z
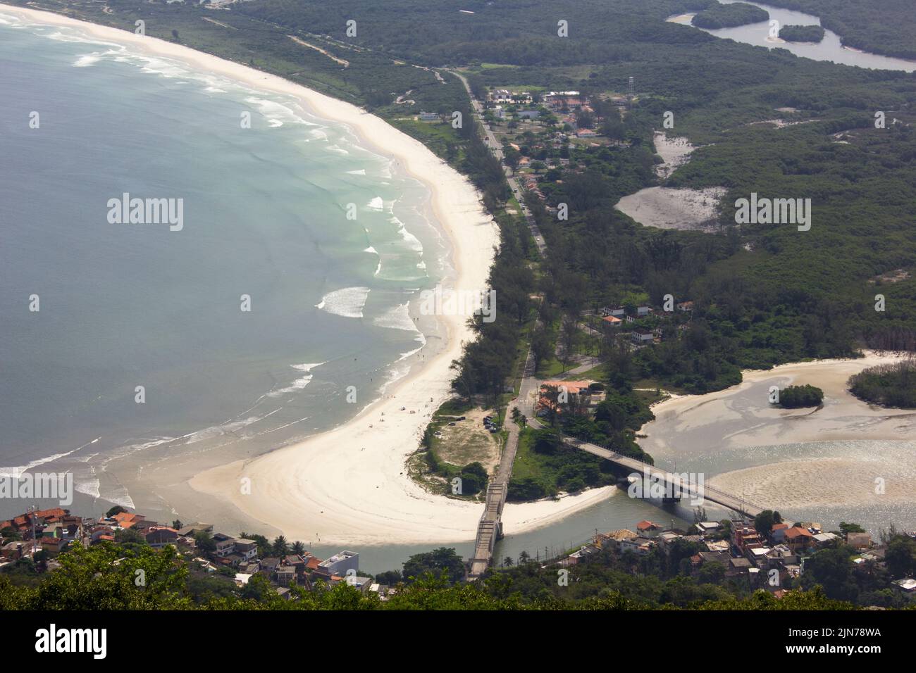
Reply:
M182 200L180 231L111 223L125 193ZM351 418L442 336L416 309L451 273L428 201L291 99L0 13L0 473L170 521L157 466Z

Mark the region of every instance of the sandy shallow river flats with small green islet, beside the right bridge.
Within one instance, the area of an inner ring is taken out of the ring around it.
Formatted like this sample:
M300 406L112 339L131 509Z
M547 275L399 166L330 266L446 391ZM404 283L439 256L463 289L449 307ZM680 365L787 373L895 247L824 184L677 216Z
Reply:
M741 385L655 407L639 441L659 464L785 516L835 526L855 513L873 532L916 523L916 414L874 407L848 377L893 358L787 364L746 372ZM823 407L769 405L769 386L817 385ZM709 438L721 438L711 446Z

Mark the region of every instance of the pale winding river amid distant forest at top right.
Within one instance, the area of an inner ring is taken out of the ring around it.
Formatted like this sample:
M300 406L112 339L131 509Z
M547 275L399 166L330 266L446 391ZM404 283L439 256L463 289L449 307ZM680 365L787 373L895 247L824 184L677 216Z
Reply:
M734 2L745 2L745 0L720 0L723 5L731 5ZM805 59L826 60L840 65L858 66L859 68L873 68L876 70L887 71L916 71L916 61L898 59L891 56L881 56L861 49L844 47L843 42L832 30L824 28L823 40L820 42L787 42L780 38L769 37L769 21L776 20L783 26L820 26L821 19L804 12L796 12L791 9L782 9L763 3L747 2L747 5L755 5L769 12L768 21L759 21L758 23L746 24L730 28L697 28L703 32L714 35L716 38L734 39L736 42L754 45L755 47L766 47L768 49L780 48L791 51L796 56ZM681 14L669 16L666 20L669 23L677 23L686 26L691 25L691 20L695 14Z

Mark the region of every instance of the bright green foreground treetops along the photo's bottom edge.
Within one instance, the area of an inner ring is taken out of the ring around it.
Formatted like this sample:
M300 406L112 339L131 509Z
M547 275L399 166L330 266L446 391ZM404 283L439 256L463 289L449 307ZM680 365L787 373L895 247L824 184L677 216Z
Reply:
M905 547L901 542L900 552L894 555L900 557L900 568L912 560L912 550ZM381 602L376 594L360 592L345 582L330 589L319 582L312 591L292 586L287 600L278 596L260 575L239 588L228 578L197 574L172 547L154 550L103 543L92 548L71 548L60 555L60 570L33 577L29 583L11 581L19 570L0 575L0 610L646 610L661 606L708 610L837 610L853 607L851 602L838 602L830 597L836 581L829 581L830 589L826 592L816 588L793 591L777 600L767 592L750 592L746 586L729 584L721 573L709 571L696 578L687 577L682 570L690 565L691 553L689 543L674 548L670 558L656 552L642 559L632 555L618 558L608 550L596 562L573 566L568 586L561 587L556 570L541 570L527 558L519 559L516 568L494 571L484 581L466 584L461 581L463 566L454 549L440 548L412 556L402 572L392 570L376 576L376 581L391 585L405 582L387 602ZM813 558L820 554L823 552ZM657 575L651 576L649 572ZM143 581L138 582L141 576ZM841 583L840 587L843 586ZM900 605L899 597L872 593L882 604Z

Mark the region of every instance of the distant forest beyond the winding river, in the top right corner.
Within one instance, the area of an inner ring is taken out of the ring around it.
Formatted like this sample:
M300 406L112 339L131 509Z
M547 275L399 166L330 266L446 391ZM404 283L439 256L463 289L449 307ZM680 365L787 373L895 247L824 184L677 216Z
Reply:
M819 16L843 44L916 60L916 11L911 0L767 0L768 5Z

